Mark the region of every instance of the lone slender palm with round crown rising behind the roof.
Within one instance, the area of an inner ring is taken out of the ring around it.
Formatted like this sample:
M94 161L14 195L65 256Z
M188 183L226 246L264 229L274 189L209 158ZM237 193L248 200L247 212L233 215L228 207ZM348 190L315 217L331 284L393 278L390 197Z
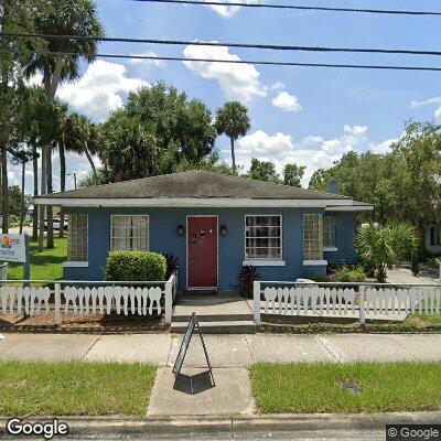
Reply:
M233 173L236 173L236 157L234 150L235 140L247 135L251 127L248 108L238 101L225 103L224 107L217 109L215 127L217 135L225 133L232 144Z

